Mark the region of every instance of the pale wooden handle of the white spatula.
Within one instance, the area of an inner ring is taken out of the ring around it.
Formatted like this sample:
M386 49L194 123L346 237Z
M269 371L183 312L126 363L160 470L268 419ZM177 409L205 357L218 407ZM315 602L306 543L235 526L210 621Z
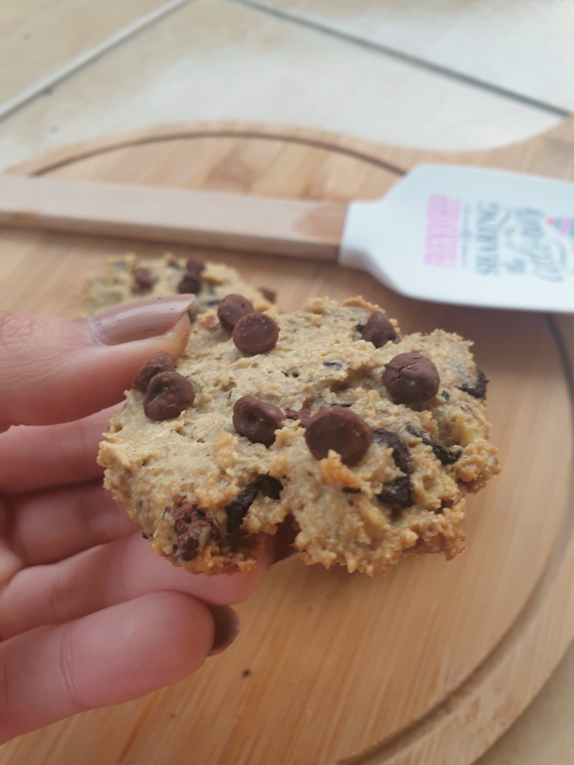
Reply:
M0 224L337 260L347 206L0 176Z

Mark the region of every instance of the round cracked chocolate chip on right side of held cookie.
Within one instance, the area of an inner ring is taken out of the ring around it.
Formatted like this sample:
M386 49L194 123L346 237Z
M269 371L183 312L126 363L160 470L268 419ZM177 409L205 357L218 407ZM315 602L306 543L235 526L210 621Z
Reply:
M421 353L399 353L385 366L383 384L396 404L420 404L439 390L439 373Z

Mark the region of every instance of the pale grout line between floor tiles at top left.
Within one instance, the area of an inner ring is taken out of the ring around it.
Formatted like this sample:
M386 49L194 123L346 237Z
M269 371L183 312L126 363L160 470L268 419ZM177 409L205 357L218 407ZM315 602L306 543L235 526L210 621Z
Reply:
M48 74L47 77L39 80L35 85L18 93L18 96L14 96L4 103L0 103L0 120L17 112L18 109L21 109L22 106L26 106L26 104L30 103L38 96L49 93L51 88L64 82L64 80L69 79L77 71L87 67L93 61L103 57L109 50L113 50L113 48L118 47L123 42L129 40L130 37L134 37L136 34L139 34L139 32L152 26L152 24L155 24L156 21L161 21L161 19L174 13L174 11L178 11L179 8L183 8L184 5L188 5L190 2L193 2L193 0L169 0L169 2L166 2L164 5L160 5L159 8L155 8L155 10L135 19L131 24L122 27L119 31L110 35L110 37L106 37L103 42L90 48L90 50L84 51L68 61L68 63L64 64L60 69L55 70L51 74Z

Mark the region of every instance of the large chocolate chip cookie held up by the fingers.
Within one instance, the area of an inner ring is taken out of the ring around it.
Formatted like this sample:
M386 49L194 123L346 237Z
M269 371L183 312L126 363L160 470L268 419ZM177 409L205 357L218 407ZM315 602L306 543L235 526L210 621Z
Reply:
M368 575L461 552L465 496L498 472L470 343L403 335L362 298L279 317L249 299L149 360L109 421L106 487L155 552L247 571L284 521L306 563Z

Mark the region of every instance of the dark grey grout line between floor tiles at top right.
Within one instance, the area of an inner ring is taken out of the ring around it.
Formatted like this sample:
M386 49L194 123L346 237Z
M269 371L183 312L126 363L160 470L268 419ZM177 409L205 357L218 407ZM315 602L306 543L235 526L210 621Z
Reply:
M449 80L456 80L459 83L464 83L477 90L492 93L494 96L516 101L524 106L531 106L533 109L539 109L542 112L554 114L559 117L567 117L570 114L569 110L563 109L562 106L556 106L556 104L553 103L547 103L540 99L525 96L523 93L517 93L514 90L508 90L507 88L489 83L488 80L480 80L478 77L472 77L470 74L458 72L455 69L443 67L439 63L433 63L424 58L404 53L402 50L396 50L396 48L366 40L364 37L358 37L355 34L328 27L326 24L320 24L318 21L311 21L310 19L302 18L301 16L286 11L281 11L278 8L269 8L269 6L256 2L256 0L223 0L223 2L233 2L235 5L243 5L245 8L252 8L253 11L260 11L269 16L280 18L282 21L289 21L292 24L298 24L299 26L320 32L321 34L336 37L338 40L364 47L367 50L373 50L376 53L383 54L389 58L401 61L402 63L408 63L413 67L438 74Z

